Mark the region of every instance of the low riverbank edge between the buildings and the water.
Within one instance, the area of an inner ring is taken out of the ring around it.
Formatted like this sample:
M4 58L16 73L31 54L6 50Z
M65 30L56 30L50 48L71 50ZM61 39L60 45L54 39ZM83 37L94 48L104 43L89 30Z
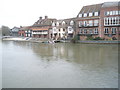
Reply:
M2 40L8 40L8 41L25 41L25 42L36 42L36 43L48 43L49 39L47 38L29 38L29 37L4 37ZM70 43L70 40L54 40L54 42L57 43ZM77 43L81 44L120 44L120 41L77 41Z

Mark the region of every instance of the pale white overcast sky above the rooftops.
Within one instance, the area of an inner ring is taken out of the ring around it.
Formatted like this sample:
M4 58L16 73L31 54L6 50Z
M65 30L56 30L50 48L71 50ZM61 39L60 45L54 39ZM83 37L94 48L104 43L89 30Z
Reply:
M0 27L30 26L40 16L56 19L73 18L83 6L111 1L115 0L1 0Z

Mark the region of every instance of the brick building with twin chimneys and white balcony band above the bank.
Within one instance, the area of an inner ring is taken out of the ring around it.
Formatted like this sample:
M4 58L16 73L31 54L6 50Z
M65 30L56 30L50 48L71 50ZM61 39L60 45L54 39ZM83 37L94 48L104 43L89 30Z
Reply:
M34 38L49 38L52 22L55 20L56 19L51 19L47 16L45 16L44 19L40 17L39 20L31 26L32 36Z

